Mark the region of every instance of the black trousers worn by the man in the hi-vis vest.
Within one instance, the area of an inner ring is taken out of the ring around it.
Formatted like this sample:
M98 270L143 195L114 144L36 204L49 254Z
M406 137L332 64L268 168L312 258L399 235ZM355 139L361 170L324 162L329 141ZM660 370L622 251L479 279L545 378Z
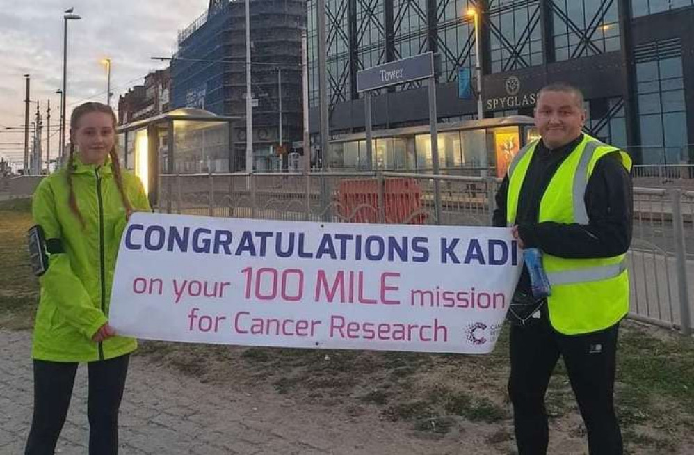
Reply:
M618 328L561 335L549 325L546 308L532 326L511 326L508 394L519 455L547 453L544 394L559 356L586 424L590 455L623 453L613 404Z

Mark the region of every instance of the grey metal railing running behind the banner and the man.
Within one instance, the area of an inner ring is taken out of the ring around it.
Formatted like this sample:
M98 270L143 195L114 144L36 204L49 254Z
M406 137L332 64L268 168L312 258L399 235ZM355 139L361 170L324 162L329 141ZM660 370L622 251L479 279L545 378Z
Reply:
M488 226L498 187L494 177L382 172L161 175L158 209L288 221ZM694 191L634 189L630 317L691 335L693 222Z

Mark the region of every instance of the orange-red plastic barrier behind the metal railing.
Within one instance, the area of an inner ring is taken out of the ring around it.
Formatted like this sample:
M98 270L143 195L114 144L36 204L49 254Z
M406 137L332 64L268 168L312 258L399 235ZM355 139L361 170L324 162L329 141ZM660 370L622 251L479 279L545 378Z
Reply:
M426 222L426 213L417 213L422 210L422 194L415 179L387 179L383 184L385 223ZM378 180L342 180L338 189L338 202L338 213L346 222L378 223Z

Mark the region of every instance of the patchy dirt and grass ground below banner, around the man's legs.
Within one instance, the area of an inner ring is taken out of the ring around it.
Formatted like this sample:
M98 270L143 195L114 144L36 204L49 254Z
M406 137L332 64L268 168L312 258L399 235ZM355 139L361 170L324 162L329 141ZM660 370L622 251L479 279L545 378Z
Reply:
M655 338L650 330L631 322L622 330L616 400L625 446L631 454L685 454L694 444L694 344L677 336ZM645 361L644 351L660 360ZM435 440L437 449L450 453L461 453L455 450L461 438L490 453L513 453L506 336L483 357L164 342L143 342L139 355L225 388L271 386L347 421L368 415L394 428L405 424L412 435ZM665 363L671 367L663 369ZM586 452L586 431L562 362L551 379L547 410L550 451Z

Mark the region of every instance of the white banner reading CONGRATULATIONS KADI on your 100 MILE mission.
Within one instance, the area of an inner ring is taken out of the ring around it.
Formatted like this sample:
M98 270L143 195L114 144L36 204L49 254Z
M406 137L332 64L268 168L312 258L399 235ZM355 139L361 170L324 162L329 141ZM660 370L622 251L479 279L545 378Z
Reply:
M109 319L147 340L489 353L519 264L502 228L136 213Z

